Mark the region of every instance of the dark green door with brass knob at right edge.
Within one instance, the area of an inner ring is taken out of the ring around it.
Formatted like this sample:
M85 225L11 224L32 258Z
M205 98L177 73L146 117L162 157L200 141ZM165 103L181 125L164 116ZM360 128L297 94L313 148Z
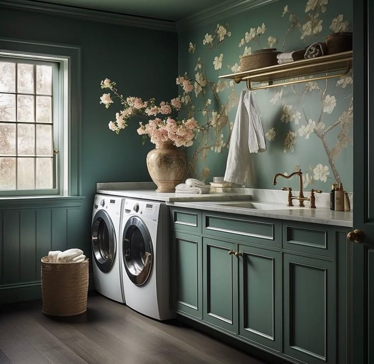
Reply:
M351 353L352 364L374 362L374 2L353 2L353 230L351 256ZM370 24L370 22L372 24ZM371 144L373 143L373 147ZM357 239L356 239L357 238ZM370 309L371 306L371 309Z

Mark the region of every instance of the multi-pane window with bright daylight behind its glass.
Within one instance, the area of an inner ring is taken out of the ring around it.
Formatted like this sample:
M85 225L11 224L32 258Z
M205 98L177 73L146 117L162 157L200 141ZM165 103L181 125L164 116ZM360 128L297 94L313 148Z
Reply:
M51 58L0 54L0 195L62 192L60 69Z

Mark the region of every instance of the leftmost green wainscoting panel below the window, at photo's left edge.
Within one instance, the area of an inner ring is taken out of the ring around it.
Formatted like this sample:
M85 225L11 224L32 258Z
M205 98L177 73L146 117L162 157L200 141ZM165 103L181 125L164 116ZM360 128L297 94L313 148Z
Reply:
M19 211L3 213L3 282L19 282Z

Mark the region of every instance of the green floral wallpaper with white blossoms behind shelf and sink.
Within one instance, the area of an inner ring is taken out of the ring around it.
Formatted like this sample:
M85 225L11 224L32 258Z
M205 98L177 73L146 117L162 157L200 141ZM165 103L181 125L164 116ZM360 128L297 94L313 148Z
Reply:
M240 57L274 47L281 51L351 31L349 0L279 0L179 35L179 74L184 112L207 126L188 148L190 174L223 176L238 97L245 83L219 79L240 71ZM277 172L304 172L304 188L327 192L342 182L352 190L353 75L255 92L267 151L252 156L247 185L274 188ZM297 181L285 181L297 188Z

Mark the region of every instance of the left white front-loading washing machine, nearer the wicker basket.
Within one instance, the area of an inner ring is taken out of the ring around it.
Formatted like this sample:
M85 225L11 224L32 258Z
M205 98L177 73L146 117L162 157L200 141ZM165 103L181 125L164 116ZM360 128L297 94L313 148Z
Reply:
M102 295L125 303L119 242L124 198L95 195L93 201L91 247L95 288Z

